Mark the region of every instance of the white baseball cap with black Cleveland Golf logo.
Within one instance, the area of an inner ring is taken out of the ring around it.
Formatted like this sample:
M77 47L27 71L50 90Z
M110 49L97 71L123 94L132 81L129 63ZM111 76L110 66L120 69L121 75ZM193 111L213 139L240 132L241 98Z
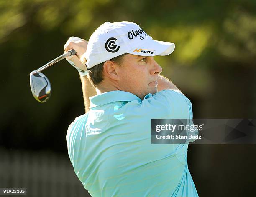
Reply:
M174 48L174 43L153 40L136 23L105 22L91 35L84 57L87 69L90 69L124 53L141 56L169 55Z

